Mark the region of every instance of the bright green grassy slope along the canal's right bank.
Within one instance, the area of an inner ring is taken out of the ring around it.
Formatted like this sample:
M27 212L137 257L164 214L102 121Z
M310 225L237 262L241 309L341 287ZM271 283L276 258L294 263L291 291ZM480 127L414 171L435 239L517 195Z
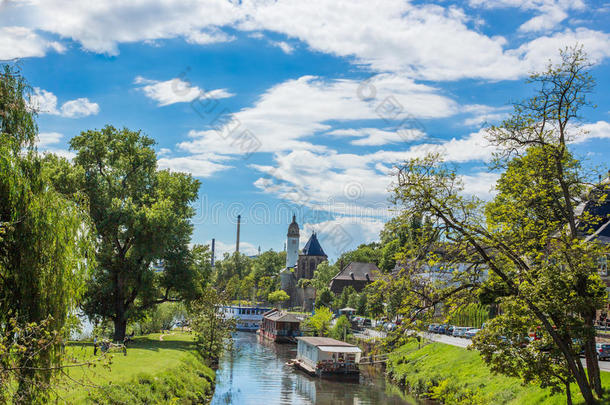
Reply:
M494 375L476 351L442 343L418 349L408 343L390 356L390 378L412 395L441 400L447 404L565 404L564 395L548 389L523 386L516 378ZM610 386L610 373L602 372L602 385ZM574 403L581 403L573 386Z

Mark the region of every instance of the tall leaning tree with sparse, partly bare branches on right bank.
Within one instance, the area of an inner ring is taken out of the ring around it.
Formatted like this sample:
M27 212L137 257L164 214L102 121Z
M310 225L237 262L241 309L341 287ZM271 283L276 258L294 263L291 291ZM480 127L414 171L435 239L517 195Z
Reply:
M586 238L590 227L583 224L602 218L577 209L591 186L569 142L582 135L577 123L593 79L581 48L561 57L531 76L536 94L488 131L495 166L504 170L491 203L465 196L455 170L434 155L404 165L394 197L403 212L433 219L440 231L445 252L433 260L439 274L433 281L428 274L426 285L432 302L478 293L501 305L502 317L474 342L492 369L555 390L574 381L591 404L593 391L602 395L593 320L605 304L598 261L607 248ZM446 258L463 265L446 266ZM520 338L532 328L542 332L544 346L522 350ZM578 342L587 354L586 371Z

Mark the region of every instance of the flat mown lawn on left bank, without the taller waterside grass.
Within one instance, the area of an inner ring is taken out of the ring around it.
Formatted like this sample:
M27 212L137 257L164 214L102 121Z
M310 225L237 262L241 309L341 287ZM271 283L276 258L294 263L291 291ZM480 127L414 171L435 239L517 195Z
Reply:
M70 403L80 403L97 386L129 382L143 373L154 376L172 370L191 356L193 350L192 335L183 332L136 337L128 344L127 356L120 351L112 352L106 361L102 360L96 367L70 369L68 377L64 378L65 387L59 394ZM66 354L78 360L95 359L91 342L73 342L66 347ZM105 363L109 363L109 366L105 366ZM84 384L77 384L71 379Z

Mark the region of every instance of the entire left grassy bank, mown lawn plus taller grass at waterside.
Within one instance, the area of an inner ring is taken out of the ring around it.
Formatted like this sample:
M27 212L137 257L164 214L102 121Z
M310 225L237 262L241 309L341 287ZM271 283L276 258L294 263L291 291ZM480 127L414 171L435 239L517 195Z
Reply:
M67 351L79 359L93 358L91 343L74 343ZM214 378L196 355L191 335L151 334L135 338L127 356L112 353L109 367L70 370L58 394L60 401L75 404L201 404L211 399Z

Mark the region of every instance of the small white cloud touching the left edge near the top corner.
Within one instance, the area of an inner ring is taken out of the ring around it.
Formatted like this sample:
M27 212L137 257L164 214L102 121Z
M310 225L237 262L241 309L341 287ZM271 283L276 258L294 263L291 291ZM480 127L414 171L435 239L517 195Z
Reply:
M65 51L60 43L47 41L26 27L0 27L0 38L0 60L40 57L50 49Z

